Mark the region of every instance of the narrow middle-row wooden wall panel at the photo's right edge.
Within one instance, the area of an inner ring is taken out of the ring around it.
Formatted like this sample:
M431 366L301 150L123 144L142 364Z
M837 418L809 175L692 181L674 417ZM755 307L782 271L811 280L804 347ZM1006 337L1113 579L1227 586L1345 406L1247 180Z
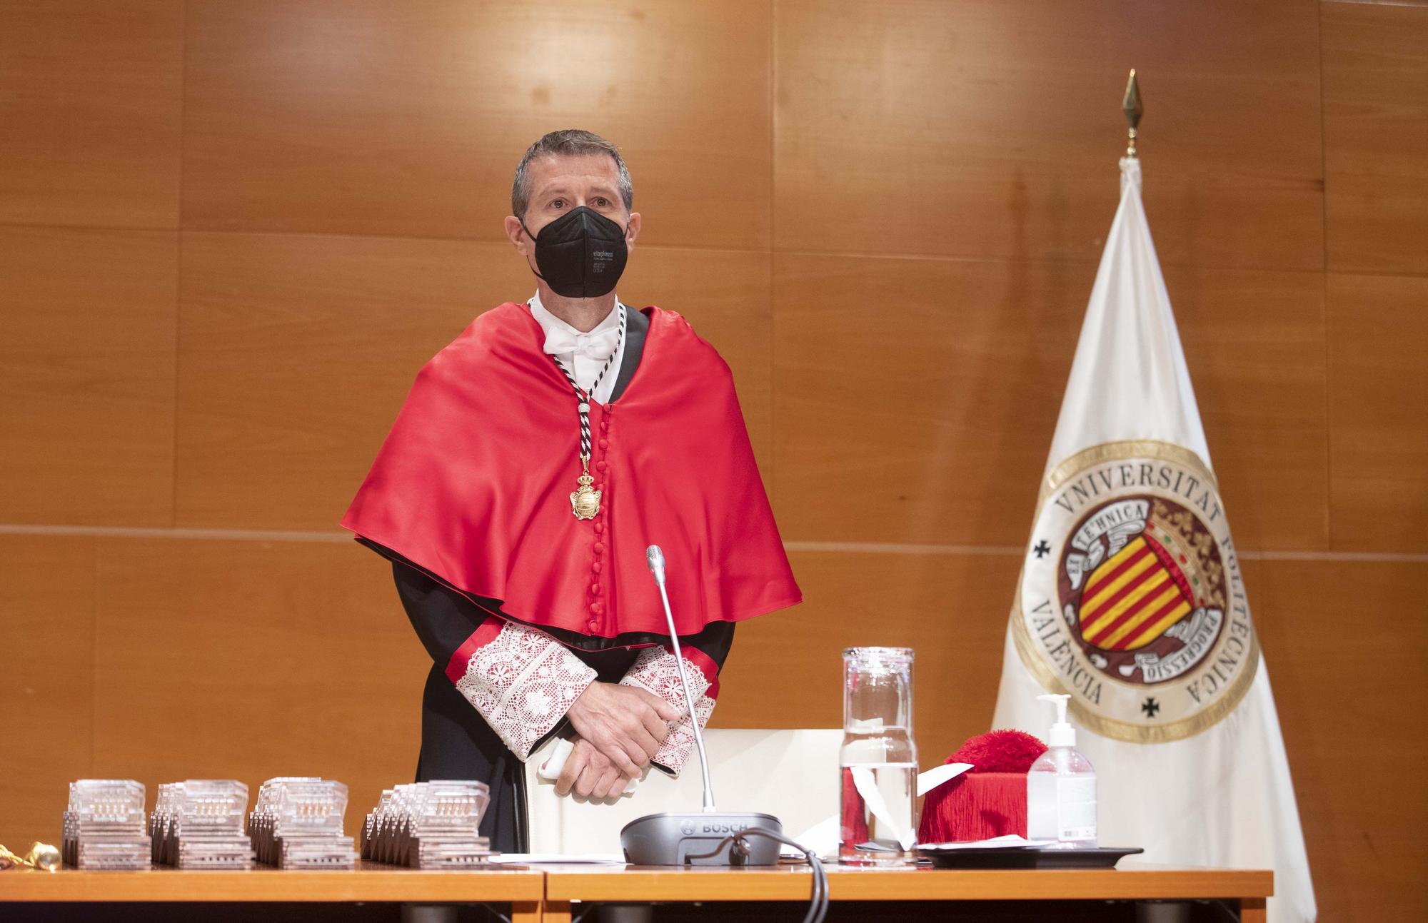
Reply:
M1428 552L1428 279L1328 277L1334 547Z

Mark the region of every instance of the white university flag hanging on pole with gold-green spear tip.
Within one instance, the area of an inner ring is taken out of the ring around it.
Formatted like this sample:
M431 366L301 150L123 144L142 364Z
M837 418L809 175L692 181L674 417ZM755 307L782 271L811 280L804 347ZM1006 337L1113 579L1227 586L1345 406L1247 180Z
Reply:
M1274 869L1271 920L1314 920L1269 676L1141 204L1121 160L1007 630L995 727L1044 736L1071 694L1100 843Z

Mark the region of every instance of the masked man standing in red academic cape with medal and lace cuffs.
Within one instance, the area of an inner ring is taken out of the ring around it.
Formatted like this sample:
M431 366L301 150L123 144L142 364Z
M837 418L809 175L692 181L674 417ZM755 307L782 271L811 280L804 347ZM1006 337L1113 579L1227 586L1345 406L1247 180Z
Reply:
M431 656L417 780L491 786L481 833L526 852L523 762L557 792L677 774L734 623L801 600L728 366L680 314L614 294L630 173L580 130L531 144L506 233L536 276L417 374L341 524L393 562ZM645 547L668 562L688 713Z

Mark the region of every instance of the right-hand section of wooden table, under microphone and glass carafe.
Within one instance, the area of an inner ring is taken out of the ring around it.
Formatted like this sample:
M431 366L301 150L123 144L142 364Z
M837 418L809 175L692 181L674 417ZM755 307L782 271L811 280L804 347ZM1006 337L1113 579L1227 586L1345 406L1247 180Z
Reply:
M1274 873L1175 869L1122 862L1120 869L987 870L848 869L827 866L831 900L1191 900L1240 904L1244 923L1264 923ZM545 923L570 923L571 902L808 900L807 866L665 869L553 866L545 869Z

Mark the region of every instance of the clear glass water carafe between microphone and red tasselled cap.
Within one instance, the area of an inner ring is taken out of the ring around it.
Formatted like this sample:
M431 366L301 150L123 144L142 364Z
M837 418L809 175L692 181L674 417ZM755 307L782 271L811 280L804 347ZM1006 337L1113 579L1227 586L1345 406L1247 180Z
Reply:
M838 764L843 776L838 860L860 866L917 862L911 647L843 652Z

